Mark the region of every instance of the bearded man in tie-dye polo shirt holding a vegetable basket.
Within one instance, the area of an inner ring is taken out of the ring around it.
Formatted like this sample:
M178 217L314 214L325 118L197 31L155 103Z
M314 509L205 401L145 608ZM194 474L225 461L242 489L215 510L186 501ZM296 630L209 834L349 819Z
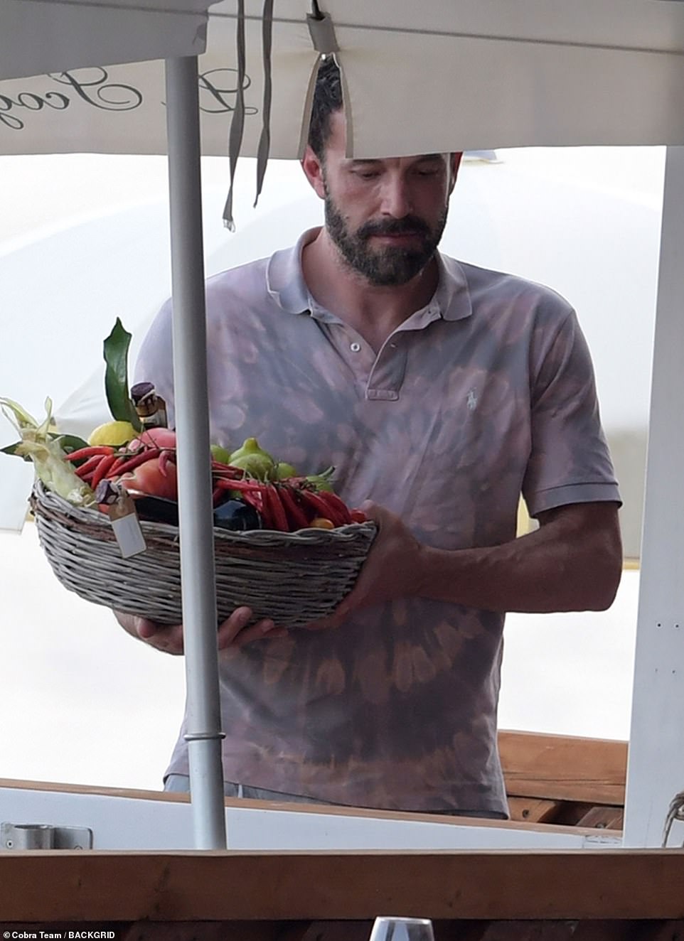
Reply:
M586 343L553 291L437 250L460 159L346 157L328 60L302 160L325 225L207 282L212 440L334 466L378 525L325 622L220 625L229 795L505 818L504 614L612 603L620 497ZM136 379L172 423L169 304ZM516 538L521 494L539 527ZM181 625L118 616L182 653ZM167 789L189 787L184 730Z

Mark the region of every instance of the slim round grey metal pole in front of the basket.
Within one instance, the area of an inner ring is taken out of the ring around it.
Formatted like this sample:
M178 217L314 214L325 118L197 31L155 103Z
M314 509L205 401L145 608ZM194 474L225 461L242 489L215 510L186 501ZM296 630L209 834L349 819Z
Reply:
M202 243L198 61L167 59L173 372L195 845L226 848Z

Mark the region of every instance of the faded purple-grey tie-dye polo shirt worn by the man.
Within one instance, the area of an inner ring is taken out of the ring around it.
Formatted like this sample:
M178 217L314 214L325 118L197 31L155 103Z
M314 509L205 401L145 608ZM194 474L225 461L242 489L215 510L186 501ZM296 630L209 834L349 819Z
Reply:
M444 550L532 515L619 501L575 312L546 287L437 256L430 303L377 354L310 296L301 251L207 282L211 437L255 437L309 473L335 468ZM170 303L143 343L173 423ZM283 584L283 592L288 586ZM504 615L399 598L336 630L220 657L224 777L342 805L506 812L497 752ZM188 774L185 724L167 774Z

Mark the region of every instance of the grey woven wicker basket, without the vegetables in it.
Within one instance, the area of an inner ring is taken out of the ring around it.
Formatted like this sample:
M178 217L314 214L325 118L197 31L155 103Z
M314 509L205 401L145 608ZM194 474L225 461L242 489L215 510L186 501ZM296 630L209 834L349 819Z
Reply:
M180 624L178 528L141 521L147 550L124 559L109 518L34 486L40 545L57 579L81 598L160 624ZM280 627L330 614L357 579L375 535L372 522L299 533L214 530L219 620L240 605Z

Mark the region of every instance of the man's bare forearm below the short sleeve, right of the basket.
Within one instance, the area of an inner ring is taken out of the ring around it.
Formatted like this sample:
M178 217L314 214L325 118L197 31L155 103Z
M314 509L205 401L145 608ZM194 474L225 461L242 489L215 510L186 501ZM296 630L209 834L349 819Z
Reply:
M418 594L488 611L605 610L620 582L622 547L615 505L593 507L591 526L589 508L578 507L549 511L540 529L501 546L423 547Z

